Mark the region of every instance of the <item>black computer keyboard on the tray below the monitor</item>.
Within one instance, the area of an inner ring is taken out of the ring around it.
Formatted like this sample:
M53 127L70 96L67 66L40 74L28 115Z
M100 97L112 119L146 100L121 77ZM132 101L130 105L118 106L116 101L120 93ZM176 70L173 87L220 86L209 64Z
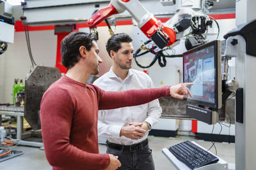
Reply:
M184 141L170 146L169 150L177 159L184 162L184 164L191 169L196 169L207 164L213 164L219 160L211 153L200 148L200 146L191 143L191 141Z

